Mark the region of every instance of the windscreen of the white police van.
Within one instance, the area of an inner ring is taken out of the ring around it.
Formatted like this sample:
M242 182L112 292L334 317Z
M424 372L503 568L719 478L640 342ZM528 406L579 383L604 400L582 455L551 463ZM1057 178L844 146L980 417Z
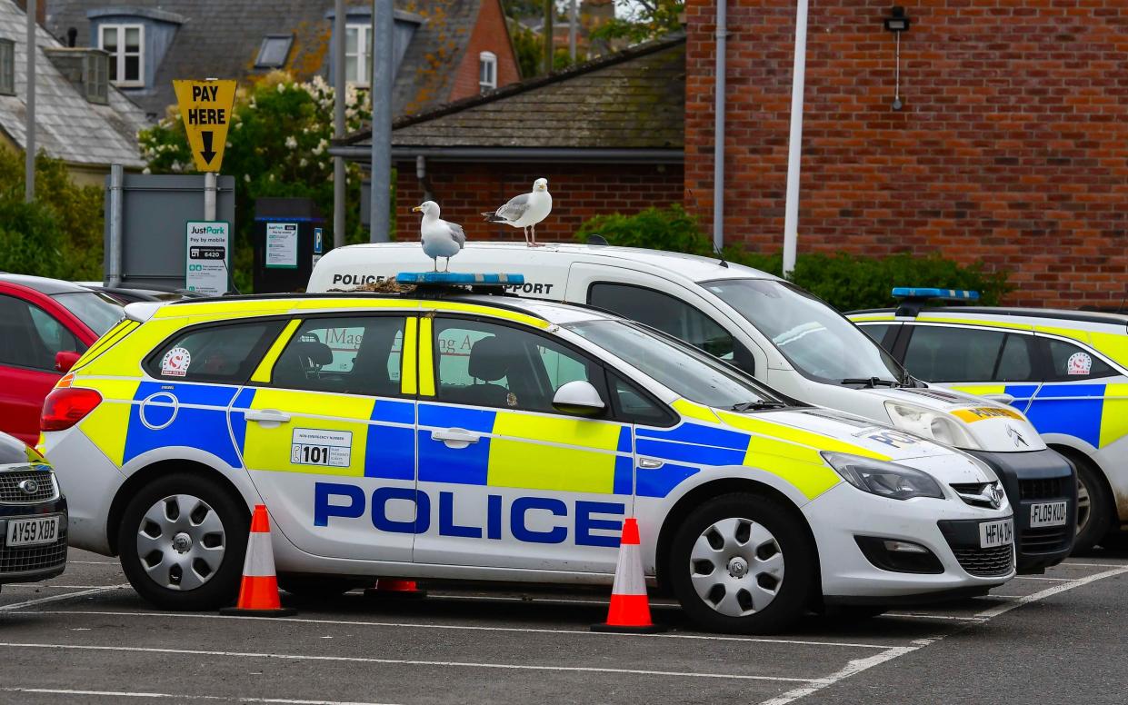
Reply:
M807 377L843 384L899 381L893 358L841 314L795 287L768 279L729 279L702 287L737 309Z

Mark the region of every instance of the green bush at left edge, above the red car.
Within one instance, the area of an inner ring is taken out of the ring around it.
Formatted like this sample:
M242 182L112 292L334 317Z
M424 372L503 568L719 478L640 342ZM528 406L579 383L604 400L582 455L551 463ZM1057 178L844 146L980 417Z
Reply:
M0 271L102 279L103 190L77 186L67 165L39 152L35 203L24 203L24 155L0 148Z

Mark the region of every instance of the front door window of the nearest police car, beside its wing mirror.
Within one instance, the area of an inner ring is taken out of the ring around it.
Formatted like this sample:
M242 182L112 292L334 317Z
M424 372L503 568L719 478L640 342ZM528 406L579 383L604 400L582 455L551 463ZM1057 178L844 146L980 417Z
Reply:
M434 331L440 402L555 414L567 382L602 387L599 365L535 333L456 318L437 319Z

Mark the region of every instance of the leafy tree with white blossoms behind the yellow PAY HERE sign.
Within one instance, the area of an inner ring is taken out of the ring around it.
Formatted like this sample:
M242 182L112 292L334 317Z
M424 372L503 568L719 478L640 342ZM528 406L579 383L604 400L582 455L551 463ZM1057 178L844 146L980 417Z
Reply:
M303 83L274 71L257 82L240 87L227 133L223 173L236 177L235 281L240 291L252 279L250 237L255 199L308 197L326 218L326 238L332 230L333 87L320 77ZM370 113L364 95L352 87L345 94L346 130L353 131ZM184 123L176 108L169 117L139 135L147 173L195 171ZM361 171L349 165L346 191L347 243L367 239L360 224ZM395 201L393 200L393 203ZM332 240L331 240L332 241Z

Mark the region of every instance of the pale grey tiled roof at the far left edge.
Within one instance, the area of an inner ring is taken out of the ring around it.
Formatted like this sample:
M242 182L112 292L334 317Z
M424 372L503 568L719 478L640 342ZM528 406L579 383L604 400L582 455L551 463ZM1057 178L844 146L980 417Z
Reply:
M23 10L11 0L0 0L0 37L16 43L16 95L0 95L0 130L20 147L27 140L25 23ZM147 126L144 113L114 88L109 89L108 105L89 103L43 52L43 47L59 46L59 43L42 27L37 30L36 147L70 164L144 166L136 141L138 131Z

